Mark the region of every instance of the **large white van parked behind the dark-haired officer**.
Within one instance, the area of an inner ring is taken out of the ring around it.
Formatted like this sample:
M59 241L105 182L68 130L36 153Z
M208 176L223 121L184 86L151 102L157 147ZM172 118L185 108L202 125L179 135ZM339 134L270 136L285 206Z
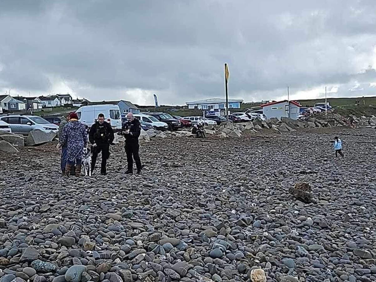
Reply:
M76 111L78 120L89 128L95 123L100 113L105 115L105 121L111 124L112 129L121 130L121 116L118 105L82 106Z

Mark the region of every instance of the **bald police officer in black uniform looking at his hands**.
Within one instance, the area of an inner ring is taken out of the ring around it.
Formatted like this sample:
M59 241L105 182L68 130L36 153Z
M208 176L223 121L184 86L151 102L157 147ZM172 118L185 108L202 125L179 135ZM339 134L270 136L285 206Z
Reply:
M126 174L133 173L133 159L135 159L137 174L141 173L141 160L138 154L138 137L141 133L141 123L133 117L132 113L127 114L127 122L123 125L123 135L125 137L125 152L127 154L128 170ZM133 155L133 159L132 159Z

